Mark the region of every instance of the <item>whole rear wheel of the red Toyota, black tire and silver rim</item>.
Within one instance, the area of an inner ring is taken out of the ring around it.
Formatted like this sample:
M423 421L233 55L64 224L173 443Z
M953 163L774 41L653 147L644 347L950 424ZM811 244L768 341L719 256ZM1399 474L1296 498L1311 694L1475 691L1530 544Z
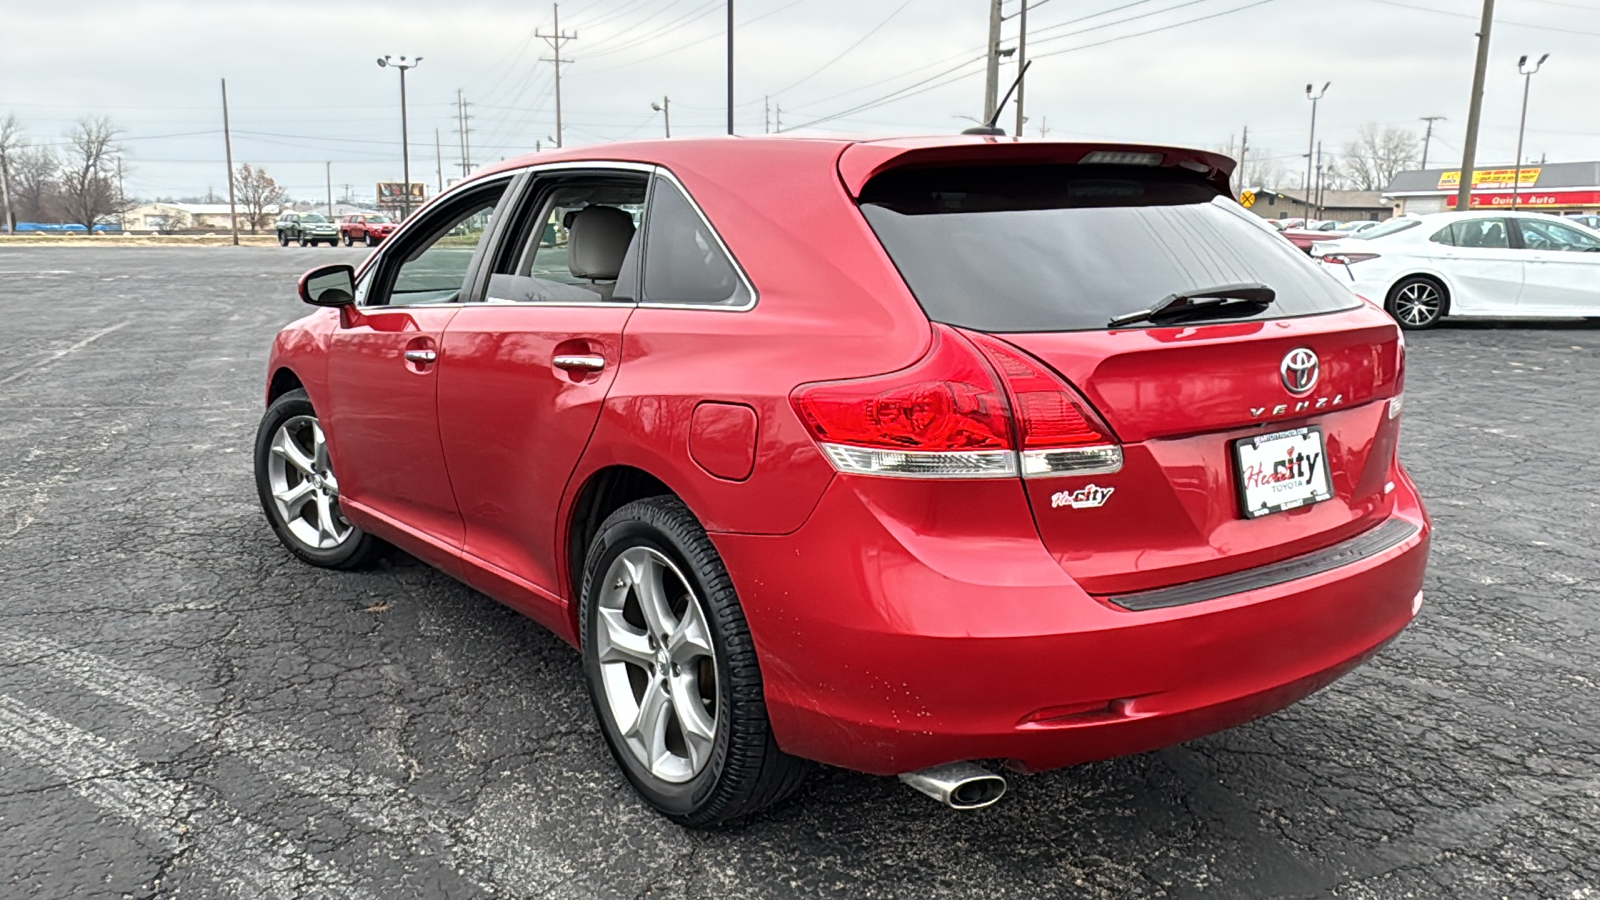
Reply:
M805 764L773 738L733 581L678 498L637 500L600 525L579 641L611 754L672 822L725 825L800 786Z

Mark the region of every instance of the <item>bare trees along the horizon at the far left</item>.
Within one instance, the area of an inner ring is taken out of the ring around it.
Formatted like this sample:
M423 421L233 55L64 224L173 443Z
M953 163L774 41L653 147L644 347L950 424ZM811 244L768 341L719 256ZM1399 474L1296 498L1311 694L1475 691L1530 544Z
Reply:
M16 223L72 223L85 229L107 223L138 205L123 192L120 130L109 117L86 117L59 141L29 141L14 114L0 119L0 205L6 232ZM234 171L234 194L242 227L267 227L288 203L283 187L261 167ZM179 218L179 216L173 216ZM166 231L189 227L170 221Z

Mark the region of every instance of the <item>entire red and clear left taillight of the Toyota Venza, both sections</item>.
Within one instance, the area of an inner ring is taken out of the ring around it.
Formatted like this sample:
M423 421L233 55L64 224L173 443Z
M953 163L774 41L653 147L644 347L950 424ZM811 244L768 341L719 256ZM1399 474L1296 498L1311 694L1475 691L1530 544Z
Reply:
M835 469L974 479L1122 468L1110 429L1042 362L987 335L963 338L944 325L933 333L933 349L910 368L795 391L795 412Z

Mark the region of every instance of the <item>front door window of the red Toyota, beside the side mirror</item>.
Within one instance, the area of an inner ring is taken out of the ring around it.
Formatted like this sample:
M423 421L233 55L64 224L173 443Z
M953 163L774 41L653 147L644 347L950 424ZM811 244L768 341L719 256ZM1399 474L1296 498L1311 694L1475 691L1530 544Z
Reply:
M373 306L454 303L472 267L472 256L490 227L507 181L469 191L430 210L386 253L384 272L370 295Z

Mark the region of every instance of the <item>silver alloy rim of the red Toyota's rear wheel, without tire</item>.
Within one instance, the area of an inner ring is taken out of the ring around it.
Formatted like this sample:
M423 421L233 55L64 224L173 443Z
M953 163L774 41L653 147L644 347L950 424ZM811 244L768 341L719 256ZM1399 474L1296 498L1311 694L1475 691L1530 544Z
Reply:
M717 650L690 581L659 551L622 551L602 581L595 652L611 719L656 778L683 783L717 743Z

